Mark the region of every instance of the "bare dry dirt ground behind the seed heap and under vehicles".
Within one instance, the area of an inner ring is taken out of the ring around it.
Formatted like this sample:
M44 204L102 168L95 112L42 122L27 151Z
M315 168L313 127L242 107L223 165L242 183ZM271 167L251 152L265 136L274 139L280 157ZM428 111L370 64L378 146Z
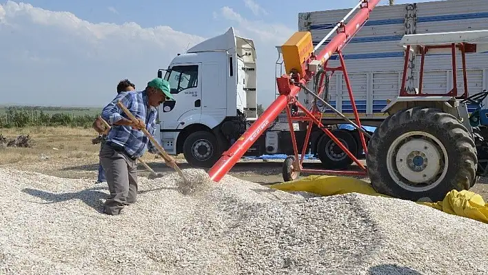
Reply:
M92 144L96 133L92 129L81 128L21 128L0 129L0 134L7 138L15 138L20 134L28 134L34 145L30 148L0 148L0 167L13 167L19 170L41 172L52 176L70 179L93 179L98 173L98 154L100 145ZM163 174L173 172L164 164L163 159L154 154L145 154L141 159L148 163L156 172ZM190 167L183 156L176 156L181 169ZM241 161L236 163L230 175L239 179L270 185L283 181L281 176L283 161ZM364 161L363 161L363 164ZM304 167L321 169L318 161L307 161ZM355 167L353 166L352 169ZM356 168L358 168L356 166ZM139 174L148 176L150 172L139 164ZM307 176L307 174L302 174ZM363 179L369 181L369 179ZM488 201L488 179L480 179L471 191L476 192Z

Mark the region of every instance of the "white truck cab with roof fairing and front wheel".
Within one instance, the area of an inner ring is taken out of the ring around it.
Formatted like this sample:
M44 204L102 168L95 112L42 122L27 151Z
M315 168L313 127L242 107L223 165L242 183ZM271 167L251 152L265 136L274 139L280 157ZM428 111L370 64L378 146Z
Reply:
M159 106L154 134L192 166L211 167L257 118L254 42L232 27L178 54L158 77L170 82L174 101Z

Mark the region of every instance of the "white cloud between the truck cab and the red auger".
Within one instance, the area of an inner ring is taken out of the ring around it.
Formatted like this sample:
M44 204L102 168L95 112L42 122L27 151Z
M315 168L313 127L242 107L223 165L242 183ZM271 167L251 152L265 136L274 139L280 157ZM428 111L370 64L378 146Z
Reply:
M236 23L236 34L254 40L257 56L258 102L268 105L274 100L276 85L276 46L283 45L296 31L281 23L251 21L227 6L221 8L221 17Z

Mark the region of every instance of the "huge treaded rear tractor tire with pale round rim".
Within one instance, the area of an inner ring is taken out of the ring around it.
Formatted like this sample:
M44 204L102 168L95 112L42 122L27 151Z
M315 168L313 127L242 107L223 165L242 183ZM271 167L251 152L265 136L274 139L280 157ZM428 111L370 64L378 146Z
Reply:
M456 117L434 108L410 108L381 123L368 145L366 165L376 192L410 201L442 201L476 180L476 147Z

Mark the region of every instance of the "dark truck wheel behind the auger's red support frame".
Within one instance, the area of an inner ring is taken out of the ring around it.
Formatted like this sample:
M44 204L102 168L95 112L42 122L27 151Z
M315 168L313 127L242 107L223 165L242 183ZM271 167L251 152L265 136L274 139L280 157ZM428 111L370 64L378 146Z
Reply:
M346 130L333 130L332 134L345 145L354 156L358 155L358 143ZM323 134L317 145L318 159L326 169L345 169L354 161L329 137Z

